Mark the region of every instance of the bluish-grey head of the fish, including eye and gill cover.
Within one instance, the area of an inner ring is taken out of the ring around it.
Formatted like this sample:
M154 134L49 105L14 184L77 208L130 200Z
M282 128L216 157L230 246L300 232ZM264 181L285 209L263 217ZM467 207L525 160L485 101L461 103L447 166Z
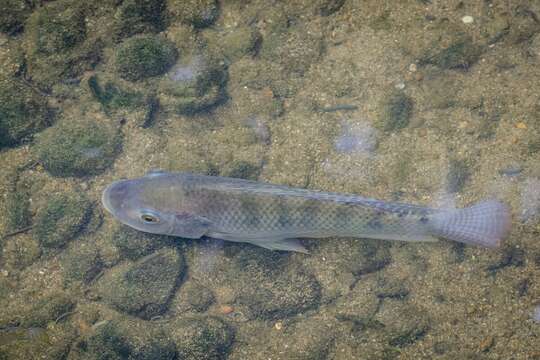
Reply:
M103 191L102 203L117 220L139 231L198 239L210 221L190 210L177 181L156 171L115 181Z

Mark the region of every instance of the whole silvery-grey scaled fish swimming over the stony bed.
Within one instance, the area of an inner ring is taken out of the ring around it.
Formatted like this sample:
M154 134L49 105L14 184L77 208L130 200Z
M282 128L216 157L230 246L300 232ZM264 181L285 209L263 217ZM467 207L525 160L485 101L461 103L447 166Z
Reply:
M496 247L510 228L496 200L436 209L281 185L152 171L110 184L104 207L120 222L155 234L203 236L272 250L306 252L298 238L357 237Z

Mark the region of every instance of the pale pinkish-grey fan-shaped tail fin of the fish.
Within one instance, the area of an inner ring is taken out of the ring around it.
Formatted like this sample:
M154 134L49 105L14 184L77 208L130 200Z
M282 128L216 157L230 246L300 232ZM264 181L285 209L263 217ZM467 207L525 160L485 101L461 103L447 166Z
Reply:
M510 211L496 200L465 209L442 211L433 217L433 235L465 244L497 247L510 230Z

